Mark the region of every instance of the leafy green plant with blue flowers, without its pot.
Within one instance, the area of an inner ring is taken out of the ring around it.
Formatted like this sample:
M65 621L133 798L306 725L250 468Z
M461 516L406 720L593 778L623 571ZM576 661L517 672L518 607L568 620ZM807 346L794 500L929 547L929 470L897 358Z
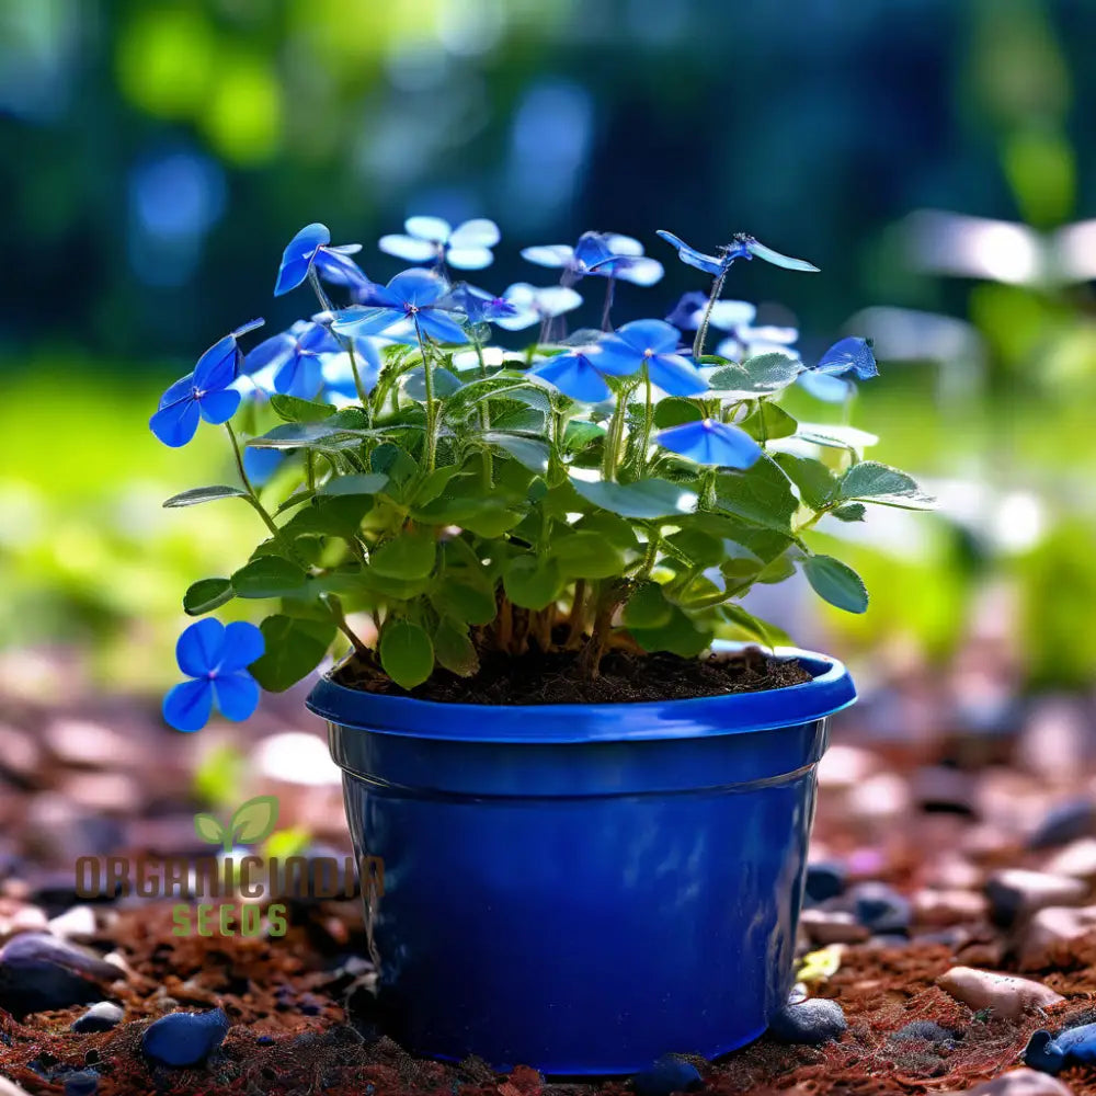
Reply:
M672 677L687 660L703 666L717 635L779 641L741 598L797 570L825 601L864 612L864 583L813 550L811 530L864 521L869 504L932 500L863 458L870 435L797 422L779 398L799 384L847 407L855 381L878 375L871 347L843 338L808 364L794 329L722 297L739 260L815 266L750 236L706 253L660 231L709 287L665 318L614 328L617 292L649 293L663 274L637 240L585 232L573 248L526 248L558 284L495 295L458 279L490 265L493 222L412 217L406 229L380 249L419 265L380 284L352 258L358 246L304 228L274 292L310 288L318 310L265 339L260 320L226 335L151 418L174 447L203 421L222 426L239 477L167 506L240 499L269 534L235 573L195 582L185 612L275 603L259 629L237 623L229 637L203 619L184 632L192 680L169 694L169 722L195 730L215 704L246 718L259 686L289 687L340 641L345 680L365 688L486 667L504 677L516 660L589 683L623 654L649 669L677 660ZM573 321L590 285L597 329Z

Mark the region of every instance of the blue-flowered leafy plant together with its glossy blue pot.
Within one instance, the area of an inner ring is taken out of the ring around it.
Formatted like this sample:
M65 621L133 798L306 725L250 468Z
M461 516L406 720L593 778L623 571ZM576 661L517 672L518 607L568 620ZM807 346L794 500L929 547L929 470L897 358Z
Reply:
M269 533L187 590L203 619L165 717L246 718L341 647L308 706L356 850L385 865L370 952L419 1053L629 1072L754 1039L791 986L815 766L855 690L741 598L800 570L863 612L811 529L929 500L856 432L780 407L875 376L864 340L808 367L794 331L721 298L737 260L814 266L659 235L710 290L614 330L616 289L662 275L627 237L529 248L559 284L500 297L456 279L490 263L490 221L411 218L381 249L424 265L387 285L310 225L275 294L307 283L319 311L246 355L254 324L227 335L151 420L169 445L224 424L239 476L165 505L240 498ZM604 287L602 330L567 335L579 285ZM539 330L510 350L493 327ZM276 607L261 629L205 616L231 598Z

